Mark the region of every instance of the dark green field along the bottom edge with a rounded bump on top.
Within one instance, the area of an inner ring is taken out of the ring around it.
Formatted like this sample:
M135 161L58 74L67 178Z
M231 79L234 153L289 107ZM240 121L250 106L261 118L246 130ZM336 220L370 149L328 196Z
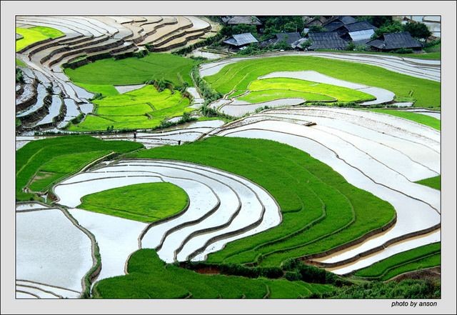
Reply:
M204 275L165 264L154 249L140 249L129 259L129 274L97 282L95 298L105 299L273 299L310 296L333 291L326 284L283 279L248 279L242 276Z

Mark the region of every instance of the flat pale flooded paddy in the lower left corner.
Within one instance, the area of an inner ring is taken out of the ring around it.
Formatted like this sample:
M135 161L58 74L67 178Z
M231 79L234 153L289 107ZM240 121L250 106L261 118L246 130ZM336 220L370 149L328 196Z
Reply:
M91 240L64 211L18 204L16 246L16 294L46 299L81 296L81 279L93 264Z

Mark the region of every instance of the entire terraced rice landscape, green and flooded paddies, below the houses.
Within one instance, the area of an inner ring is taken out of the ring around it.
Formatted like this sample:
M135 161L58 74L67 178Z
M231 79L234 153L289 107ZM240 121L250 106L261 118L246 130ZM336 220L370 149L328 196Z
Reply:
M439 61L204 62L163 52L206 17L16 21L16 298L372 298L441 266Z

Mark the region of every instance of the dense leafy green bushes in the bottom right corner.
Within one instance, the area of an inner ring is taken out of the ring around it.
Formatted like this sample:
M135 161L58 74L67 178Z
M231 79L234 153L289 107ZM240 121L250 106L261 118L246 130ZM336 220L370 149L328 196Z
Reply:
M316 294L322 299L440 299L441 284L429 280L368 282L338 289L331 294Z

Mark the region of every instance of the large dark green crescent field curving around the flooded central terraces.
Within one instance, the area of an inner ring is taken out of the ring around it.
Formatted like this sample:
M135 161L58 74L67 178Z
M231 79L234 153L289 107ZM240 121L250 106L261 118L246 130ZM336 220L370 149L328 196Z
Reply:
M279 266L286 259L358 239L395 216L388 202L348 184L336 171L303 151L276 141L216 136L129 156L213 166L254 181L278 201L283 214L281 224L227 244L209 255L211 263L257 261L264 266Z

